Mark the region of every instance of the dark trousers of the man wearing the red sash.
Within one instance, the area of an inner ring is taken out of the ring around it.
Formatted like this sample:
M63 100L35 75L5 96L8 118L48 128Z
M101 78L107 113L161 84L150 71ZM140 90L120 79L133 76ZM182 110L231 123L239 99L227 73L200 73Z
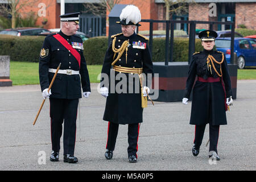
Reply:
M50 98L52 150L60 151L60 138L64 121L64 154L74 154L76 143L76 118L78 99L67 100Z

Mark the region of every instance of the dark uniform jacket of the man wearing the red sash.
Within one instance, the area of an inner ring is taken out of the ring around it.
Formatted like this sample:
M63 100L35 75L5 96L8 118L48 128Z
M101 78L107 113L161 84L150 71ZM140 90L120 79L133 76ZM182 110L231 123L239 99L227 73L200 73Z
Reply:
M65 48L57 39L55 34L48 35L44 39L43 47L39 59L39 79L42 91L49 87L55 73L48 72L49 68L57 69L61 63L60 69L72 69L79 71L79 75L65 75L58 73L51 88L50 98L76 99L81 98L81 85L83 92L90 92L90 80L86 66L82 39L77 35L67 36L63 32L57 33L63 37L70 45L80 45L75 49L80 54L79 61L72 55L70 50ZM79 43L79 44L78 44Z

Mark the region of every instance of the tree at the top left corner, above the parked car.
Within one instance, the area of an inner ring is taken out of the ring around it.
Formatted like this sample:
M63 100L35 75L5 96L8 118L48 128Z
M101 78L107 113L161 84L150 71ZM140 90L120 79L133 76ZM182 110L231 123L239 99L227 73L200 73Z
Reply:
M11 28L15 28L16 18L19 15L19 10L23 9L26 6L32 6L38 0L5 0L5 4L0 5L0 10L3 14L10 14L11 15Z

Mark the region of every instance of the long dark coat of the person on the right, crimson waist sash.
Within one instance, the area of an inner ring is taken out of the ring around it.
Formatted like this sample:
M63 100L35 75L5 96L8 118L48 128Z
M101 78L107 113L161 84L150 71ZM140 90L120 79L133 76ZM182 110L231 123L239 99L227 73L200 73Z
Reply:
M222 64L217 64L213 61L214 67L222 76L218 76L212 67L208 69L207 57L212 55L219 63L224 56ZM220 71L221 68L221 71ZM195 78L208 77L220 78L218 82L201 82ZM193 84L195 82L195 86ZM218 51L207 51L195 53L192 56L192 62L189 66L187 86L185 88L184 97L189 98L193 87L192 107L191 107L191 125L205 125L212 122L212 125L226 125L226 109L225 97L232 96L232 85L230 81L228 64L226 63L225 55Z

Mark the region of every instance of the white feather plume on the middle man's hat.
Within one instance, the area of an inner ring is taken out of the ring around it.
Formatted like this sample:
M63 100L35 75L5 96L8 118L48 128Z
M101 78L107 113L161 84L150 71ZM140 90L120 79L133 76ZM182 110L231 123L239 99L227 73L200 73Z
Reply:
M127 5L123 10L121 15L119 16L120 20L126 20L126 24L129 22L133 22L137 24L141 22L141 11L139 11L137 6Z

